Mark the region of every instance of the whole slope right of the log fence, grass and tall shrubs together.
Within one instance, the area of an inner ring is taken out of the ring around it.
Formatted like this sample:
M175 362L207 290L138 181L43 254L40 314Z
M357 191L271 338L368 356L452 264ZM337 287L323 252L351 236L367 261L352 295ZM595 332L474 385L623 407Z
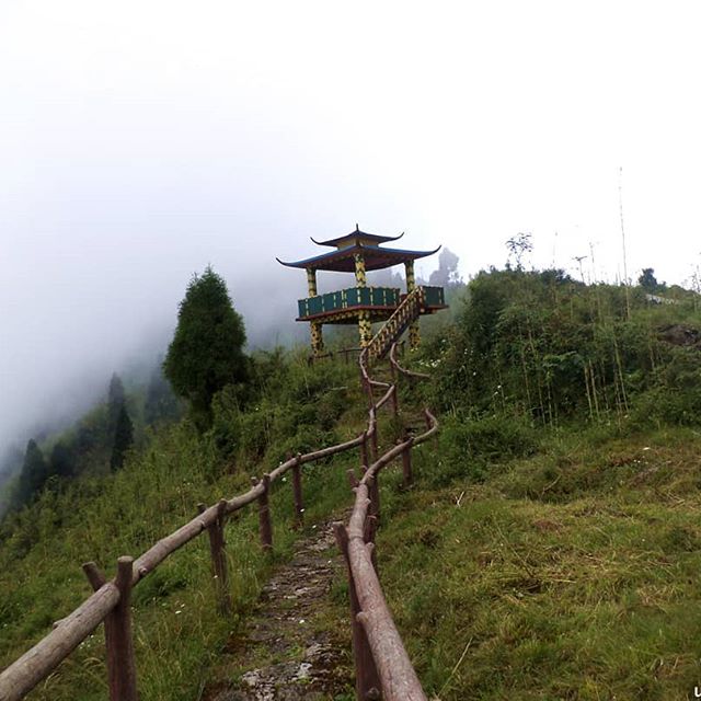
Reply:
M701 686L696 296L493 271L417 365L443 409L382 581L427 692L680 699Z

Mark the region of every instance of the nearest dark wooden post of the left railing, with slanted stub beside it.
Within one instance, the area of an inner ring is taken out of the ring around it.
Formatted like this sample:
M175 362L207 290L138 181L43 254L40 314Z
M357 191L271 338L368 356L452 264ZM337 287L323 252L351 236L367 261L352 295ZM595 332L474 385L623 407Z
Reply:
M131 639L131 577L134 558L119 558L115 585L119 601L105 617L105 647L110 701L137 701L136 664ZM83 572L96 591L105 584L104 575L94 562L87 562Z

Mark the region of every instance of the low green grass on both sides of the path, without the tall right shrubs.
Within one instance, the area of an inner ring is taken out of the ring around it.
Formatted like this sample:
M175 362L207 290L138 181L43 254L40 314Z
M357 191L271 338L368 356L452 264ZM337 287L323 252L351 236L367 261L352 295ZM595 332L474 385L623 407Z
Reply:
M118 555L142 552L198 502L241 493L251 474L318 437L310 427L320 414L334 417L323 435L357 435L365 406L356 369L295 372L284 376L289 401L266 398L246 416L225 407L231 413L217 435L251 435L229 460L182 424L159 433L124 471L78 480L26 510L0 548L0 665L89 595L81 562L96 560L111 575ZM348 389L324 394L324 382ZM290 414L306 397L309 406ZM407 411L411 397L401 393ZM380 436L393 438L398 422L389 411L379 418ZM457 416L439 420L438 440L413 452L412 489L401 489L400 464L383 471L377 543L390 609L429 698L692 698L701 686L701 434L620 422L529 430L507 416L467 427ZM350 504L346 470L356 464L353 452L304 468L308 524ZM142 699L197 698L300 536L289 527L289 486L272 495L272 555L257 547L254 508L227 526L231 617L217 614L206 538L136 588ZM341 575L320 630L343 617ZM79 690L102 699L105 688L99 630L31 698L74 699Z

